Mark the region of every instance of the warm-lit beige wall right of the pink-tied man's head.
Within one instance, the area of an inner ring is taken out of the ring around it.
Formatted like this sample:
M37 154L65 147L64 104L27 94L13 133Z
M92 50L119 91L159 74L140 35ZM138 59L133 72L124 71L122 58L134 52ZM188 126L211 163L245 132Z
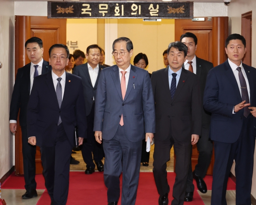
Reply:
M143 22L143 19L118 19L118 38L127 37L133 43L134 56L142 52L148 57L148 72L164 68L163 52L174 41L174 20Z

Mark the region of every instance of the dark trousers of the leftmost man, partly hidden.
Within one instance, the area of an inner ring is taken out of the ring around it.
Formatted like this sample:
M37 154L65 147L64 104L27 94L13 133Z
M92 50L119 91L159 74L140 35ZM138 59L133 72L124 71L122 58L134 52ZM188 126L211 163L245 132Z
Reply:
M25 189L36 189L36 146L28 143L27 126L21 126Z

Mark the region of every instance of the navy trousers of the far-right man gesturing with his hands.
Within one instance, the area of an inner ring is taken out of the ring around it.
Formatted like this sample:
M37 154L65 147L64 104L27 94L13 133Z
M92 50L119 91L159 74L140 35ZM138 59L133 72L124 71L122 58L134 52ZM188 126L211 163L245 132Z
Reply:
M214 141L214 167L211 205L227 205L228 177L235 160L236 205L251 205L252 173L255 138L252 133L252 115L243 117L242 130L234 143Z

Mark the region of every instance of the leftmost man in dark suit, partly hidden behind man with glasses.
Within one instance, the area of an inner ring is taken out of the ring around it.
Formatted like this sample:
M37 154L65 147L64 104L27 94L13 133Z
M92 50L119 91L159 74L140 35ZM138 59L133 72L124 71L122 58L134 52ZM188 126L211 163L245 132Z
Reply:
M18 69L12 92L10 105L10 131L16 133L17 118L20 110L20 127L22 131L22 155L26 193L22 199L36 197L36 146L28 143L27 137L27 105L33 86L34 77L51 71L51 66L43 60L43 42L40 38L32 37L25 43L29 64Z

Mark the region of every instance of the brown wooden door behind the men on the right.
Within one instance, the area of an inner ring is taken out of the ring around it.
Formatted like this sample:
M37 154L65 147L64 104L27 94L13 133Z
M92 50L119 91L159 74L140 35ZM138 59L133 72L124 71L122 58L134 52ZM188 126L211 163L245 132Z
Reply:
M227 56L225 54L225 40L228 37L228 17L204 17L204 21L192 21L191 19L175 20L175 40L179 41L180 36L186 32L191 32L198 38L196 56L210 61L214 66L223 63ZM192 148L192 170L198 161L198 151L196 145ZM174 171L175 171L174 156ZM214 165L214 152L207 174L212 175Z

